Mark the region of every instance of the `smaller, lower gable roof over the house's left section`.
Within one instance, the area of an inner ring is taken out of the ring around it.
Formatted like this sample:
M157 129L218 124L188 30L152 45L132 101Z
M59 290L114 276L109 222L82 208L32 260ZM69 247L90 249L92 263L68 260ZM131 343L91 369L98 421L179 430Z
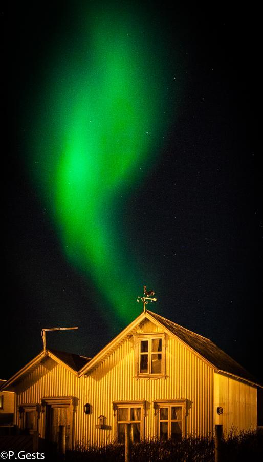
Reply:
M37 356L35 356L31 361L29 361L23 368L16 372L9 380L4 384L0 384L1 390L12 390L15 383L21 380L21 378L29 374L34 370L40 362L43 360L51 358L53 361L61 364L63 367L68 369L74 375L77 375L78 371L83 367L84 364L90 361L91 358L86 358L85 356L76 355L74 353L67 353L59 350L42 350Z

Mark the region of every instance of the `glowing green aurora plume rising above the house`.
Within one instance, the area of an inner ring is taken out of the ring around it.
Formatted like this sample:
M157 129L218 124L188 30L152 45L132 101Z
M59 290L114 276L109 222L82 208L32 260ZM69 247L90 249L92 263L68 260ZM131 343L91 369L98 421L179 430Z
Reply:
M52 44L29 103L30 175L65 258L93 281L116 322L142 310L136 297L156 273L123 217L173 114L165 34L142 8L86 6L82 23L73 18Z

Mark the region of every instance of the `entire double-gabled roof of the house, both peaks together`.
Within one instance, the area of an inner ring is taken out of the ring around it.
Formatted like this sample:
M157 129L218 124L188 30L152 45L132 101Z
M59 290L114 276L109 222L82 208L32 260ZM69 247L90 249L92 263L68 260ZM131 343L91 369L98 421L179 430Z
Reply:
M233 358L227 355L223 350L217 347L215 343L202 335L196 334L183 328L181 325L175 322L169 321L162 316L146 310L145 313L141 313L133 322L131 322L120 334L118 334L111 342L109 342L94 358L87 358L82 355L76 355L74 353L67 353L64 351L47 349L42 350L35 358L33 358L28 364L22 369L15 373L9 380L5 381L4 384L0 383L0 390L12 390L15 383L21 380L21 378L29 374L37 365L43 360L50 357L58 364L68 369L74 375L81 377L82 375L92 371L94 368L101 363L106 356L111 354L119 344L125 339L129 338L136 333L139 324L148 319L152 323L156 324L168 335L173 336L180 342L182 342L187 348L193 353L201 357L206 361L216 372L222 372L234 376L235 378L242 379L257 385L261 388L262 384L238 364Z

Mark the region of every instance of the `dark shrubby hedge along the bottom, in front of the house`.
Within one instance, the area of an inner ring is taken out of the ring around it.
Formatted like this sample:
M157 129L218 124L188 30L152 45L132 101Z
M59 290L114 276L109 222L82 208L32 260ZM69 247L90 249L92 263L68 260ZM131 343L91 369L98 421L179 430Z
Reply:
M66 462L124 462L123 444L102 447L78 445L68 451ZM233 430L222 441L221 460L224 462L261 462L263 460L263 435L256 431L237 435ZM209 437L188 437L181 442L151 439L131 447L131 462L213 462L214 441Z

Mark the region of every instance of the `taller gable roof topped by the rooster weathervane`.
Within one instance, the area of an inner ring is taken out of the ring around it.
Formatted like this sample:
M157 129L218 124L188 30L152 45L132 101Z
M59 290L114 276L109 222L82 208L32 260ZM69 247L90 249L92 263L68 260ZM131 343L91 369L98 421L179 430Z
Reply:
M94 369L106 356L117 348L129 335L132 335L135 327L138 326L145 318L159 325L168 335L172 335L179 339L186 347L190 348L194 353L201 356L203 360L208 362L216 372L224 372L234 377L241 378L261 387L258 381L253 377L242 365L238 364L227 353L217 347L210 339L203 337L183 328L175 322L169 321L162 316L146 310L141 313L126 329L124 329L117 337L109 342L94 358L79 371L79 376L86 374Z

